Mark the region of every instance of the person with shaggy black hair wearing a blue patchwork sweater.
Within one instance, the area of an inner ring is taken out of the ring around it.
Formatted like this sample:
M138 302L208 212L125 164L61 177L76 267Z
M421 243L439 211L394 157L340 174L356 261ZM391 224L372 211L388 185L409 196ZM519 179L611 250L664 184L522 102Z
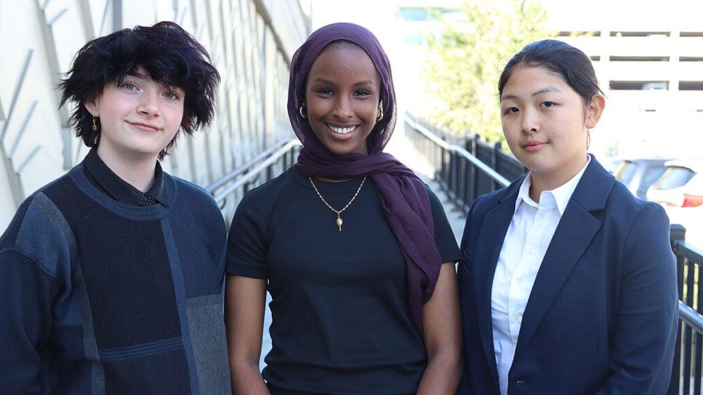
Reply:
M230 394L226 231L158 159L207 125L219 74L173 22L93 39L60 84L91 147L0 238L1 394Z

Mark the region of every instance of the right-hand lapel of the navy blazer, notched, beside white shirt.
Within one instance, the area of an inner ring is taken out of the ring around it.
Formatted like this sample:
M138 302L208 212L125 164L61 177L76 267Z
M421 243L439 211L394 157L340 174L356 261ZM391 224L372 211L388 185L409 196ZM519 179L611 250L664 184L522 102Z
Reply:
M515 358L534 335L569 273L602 226L600 219L591 212L605 207L614 181L595 157L591 157L591 164L569 200L537 273L522 316Z

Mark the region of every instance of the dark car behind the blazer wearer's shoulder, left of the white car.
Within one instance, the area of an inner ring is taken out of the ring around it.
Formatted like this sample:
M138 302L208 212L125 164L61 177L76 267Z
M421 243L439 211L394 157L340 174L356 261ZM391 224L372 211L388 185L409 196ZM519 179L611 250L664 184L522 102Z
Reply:
M664 174L666 162L670 160L664 157L623 159L613 174L633 195L645 199L647 189Z

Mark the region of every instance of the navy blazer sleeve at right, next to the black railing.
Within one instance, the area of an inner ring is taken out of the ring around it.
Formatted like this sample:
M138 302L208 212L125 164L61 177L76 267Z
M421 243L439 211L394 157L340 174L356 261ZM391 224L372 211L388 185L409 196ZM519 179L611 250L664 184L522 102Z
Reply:
M625 240L612 375L597 394L665 394L678 330L678 293L664 209L644 205Z

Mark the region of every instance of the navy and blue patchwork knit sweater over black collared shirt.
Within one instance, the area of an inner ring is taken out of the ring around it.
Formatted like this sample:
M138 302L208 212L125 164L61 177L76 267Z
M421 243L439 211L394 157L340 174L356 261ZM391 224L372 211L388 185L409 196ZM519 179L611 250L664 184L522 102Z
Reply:
M169 206L112 200L83 164L0 238L0 394L229 394L224 221L164 174Z

